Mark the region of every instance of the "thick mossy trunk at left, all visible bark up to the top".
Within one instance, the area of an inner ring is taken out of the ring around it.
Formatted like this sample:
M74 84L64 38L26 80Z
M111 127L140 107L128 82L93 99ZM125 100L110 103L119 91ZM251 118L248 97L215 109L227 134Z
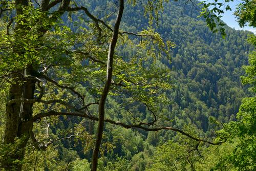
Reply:
M61 5L58 9L60 15L65 12L70 4L70 0L55 1L53 4L49 4L49 2L50 1L48 0L41 1L41 10L47 11L57 3L61 2ZM28 5L28 0L16 0L16 15L22 15L24 13L24 7L27 7ZM14 34L16 34L17 37L20 34L20 31L25 31L25 33L26 31L29 31L29 28L22 24L26 22L26 19L23 19L20 23L16 23ZM50 27L51 26L49 26L49 28ZM37 33L39 36L43 36L46 32L47 30L45 28L39 28ZM23 47L16 47L14 53L17 53L19 56L23 56ZM13 71L11 77L14 83L10 86L8 101L23 98L34 99L36 80L26 79L26 76L35 76L33 73L36 73L34 72L36 70L37 69L32 67L32 63L28 63L27 66L24 66L24 69ZM22 170L22 163L20 161L24 159L25 147L30 138L29 133L30 130L33 129L33 122L31 122L33 117L33 103L14 102L9 104L8 101L6 104L5 114L6 127L4 145L6 145L8 148L14 149L10 149L10 152L5 153L3 159L1 160L0 169L3 168L5 170ZM16 162L17 160L18 162Z

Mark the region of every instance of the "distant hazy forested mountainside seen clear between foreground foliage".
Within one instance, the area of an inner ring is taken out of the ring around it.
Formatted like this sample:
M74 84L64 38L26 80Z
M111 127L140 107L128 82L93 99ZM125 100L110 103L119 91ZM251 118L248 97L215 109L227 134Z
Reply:
M183 113L185 118L182 119L191 120L205 132L209 116L221 122L234 120L246 94L240 76L244 74L241 68L247 65L248 52L252 50L246 42L249 32L227 27L227 36L223 39L206 27L203 18L197 17L198 7L182 2L169 3L165 7L159 17L159 26L154 28L176 45L171 55L172 63L167 59L162 61L172 69L176 86L170 95L173 104L169 111L177 113L170 115L178 117ZM147 27L145 20L131 17L142 11L136 8L128 11L124 23L130 26L130 31Z

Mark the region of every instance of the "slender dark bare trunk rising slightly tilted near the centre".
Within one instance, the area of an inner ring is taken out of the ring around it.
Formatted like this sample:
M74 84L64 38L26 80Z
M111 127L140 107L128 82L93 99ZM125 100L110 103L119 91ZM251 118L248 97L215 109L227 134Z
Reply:
M98 165L98 154L99 154L99 148L100 148L100 143L102 140L102 134L103 134L103 128L104 128L105 101L106 101L106 97L108 96L109 89L111 86L111 80L112 80L112 75L113 75L114 51L115 51L115 46L116 46L117 39L118 39L119 26L120 26L121 19L122 19L123 9L124 9L124 1L119 0L119 10L118 10L118 14L117 14L116 21L115 21L112 40L111 40L110 47L109 47L108 63L107 63L107 67L106 67L106 83L105 83L105 86L104 86L104 89L103 89L103 92L101 95L101 99L99 101L98 132L97 132L97 139L96 139L94 149L93 149L92 168L91 168L91 170L93 170L93 171L97 170L97 165Z

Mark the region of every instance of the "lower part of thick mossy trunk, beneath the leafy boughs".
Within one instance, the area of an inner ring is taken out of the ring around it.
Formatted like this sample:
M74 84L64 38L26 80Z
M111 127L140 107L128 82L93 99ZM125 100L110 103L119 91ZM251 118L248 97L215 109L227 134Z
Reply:
M24 75L31 73L32 67L26 69ZM20 75L21 76L21 75ZM9 91L9 100L17 98L34 98L35 81L23 81L20 76L15 74L15 84L12 84ZM31 129L32 122L28 122L32 118L32 103L15 102L6 105L6 127L4 144L10 145L9 153L5 153L4 159L1 163L2 167L6 170L21 170L22 161L24 158L25 147L29 139L29 130ZM18 160L18 162L16 161ZM13 162L15 161L15 162Z

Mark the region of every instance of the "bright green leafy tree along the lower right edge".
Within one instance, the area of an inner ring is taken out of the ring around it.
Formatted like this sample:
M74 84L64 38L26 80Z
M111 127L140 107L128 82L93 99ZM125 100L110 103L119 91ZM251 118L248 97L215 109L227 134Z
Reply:
M256 36L251 35L248 39L252 45L256 45ZM225 124L224 131L230 135L229 141L234 143L234 149L222 162L218 163L216 168L222 168L225 163L232 163L234 167L239 170L253 170L255 169L255 139L256 139L256 53L255 50L249 54L249 66L245 66L246 76L242 76L243 84L250 84L252 92L251 97L246 97L242 100L239 112L237 114L237 121L232 121Z

